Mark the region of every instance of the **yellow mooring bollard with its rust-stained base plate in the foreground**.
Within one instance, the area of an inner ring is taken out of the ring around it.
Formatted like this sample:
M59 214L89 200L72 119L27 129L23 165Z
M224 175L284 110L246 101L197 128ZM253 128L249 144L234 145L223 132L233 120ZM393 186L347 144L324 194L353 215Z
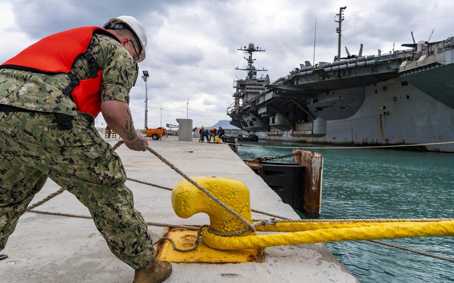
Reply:
M224 195L223 202L250 222L249 190L240 181L226 177L192 177L197 183L215 195ZM210 216L211 227L215 231L229 232L241 229L244 223L209 198L186 180L180 181L172 191L172 206L176 214L183 218L205 212ZM250 231L238 236L252 235ZM164 237L170 238L180 248L194 245L197 231L181 228L168 228ZM262 249L222 251L204 244L203 239L194 251L181 253L175 251L170 242L158 244L156 255L161 261L195 263L262 263L265 255Z

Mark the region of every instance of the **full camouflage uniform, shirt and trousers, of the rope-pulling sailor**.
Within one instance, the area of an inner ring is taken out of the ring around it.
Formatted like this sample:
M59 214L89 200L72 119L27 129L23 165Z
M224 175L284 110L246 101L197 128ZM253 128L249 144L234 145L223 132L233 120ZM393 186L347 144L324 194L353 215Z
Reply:
M112 38L93 35L88 51L103 69L101 100L129 103L137 64L127 50ZM71 71L80 79L90 77L84 58ZM147 225L124 184L120 157L102 140L93 117L77 112L62 94L68 84L65 74L0 69L0 104L39 111L0 112L0 251L50 177L89 209L112 253L138 269L153 258ZM73 116L73 128L59 129L54 113Z

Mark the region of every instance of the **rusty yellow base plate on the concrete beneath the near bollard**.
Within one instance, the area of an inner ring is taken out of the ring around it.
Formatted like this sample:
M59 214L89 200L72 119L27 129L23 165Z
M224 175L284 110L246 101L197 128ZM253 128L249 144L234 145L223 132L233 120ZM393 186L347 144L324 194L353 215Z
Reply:
M197 237L197 231L181 228L168 228L164 237L174 240L179 249L191 249ZM201 240L197 250L180 253L173 249L169 241L158 244L156 257L160 261L172 263L262 263L265 255L262 249L221 251L208 247Z

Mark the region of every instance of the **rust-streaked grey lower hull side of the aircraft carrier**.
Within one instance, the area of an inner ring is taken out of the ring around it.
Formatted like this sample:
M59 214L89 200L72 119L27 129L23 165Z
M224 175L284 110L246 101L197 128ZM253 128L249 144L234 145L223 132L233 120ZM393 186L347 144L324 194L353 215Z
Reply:
M264 140L336 145L454 141L454 109L413 85L402 86L402 82L405 81L397 78L365 87L360 109L350 118L326 121L326 134L319 137L304 131L311 127L305 123L295 124L288 131L270 127L269 131L255 132L255 135ZM387 91L383 91L384 86ZM454 152L454 144L427 145L415 149Z

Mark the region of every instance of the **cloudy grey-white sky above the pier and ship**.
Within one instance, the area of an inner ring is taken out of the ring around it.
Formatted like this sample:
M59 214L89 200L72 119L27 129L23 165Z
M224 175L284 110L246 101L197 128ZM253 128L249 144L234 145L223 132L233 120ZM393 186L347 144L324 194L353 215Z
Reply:
M402 43L412 42L411 31L417 41L428 40L434 28L431 41L454 33L454 4L448 0L0 0L0 60L51 33L132 15L148 34L147 58L139 64L140 74L150 72L148 126L159 127L161 108L163 125L186 118L188 98L194 126L210 126L229 119L233 79L245 77L234 70L245 65L239 46L253 42L266 49L256 54L255 66L278 79L312 61L317 17L315 62L331 62L337 54L334 15L340 5L347 6L342 46L352 54L360 43L363 55L389 52L394 42L402 49ZM143 128L145 83L140 78L130 96L136 128Z

